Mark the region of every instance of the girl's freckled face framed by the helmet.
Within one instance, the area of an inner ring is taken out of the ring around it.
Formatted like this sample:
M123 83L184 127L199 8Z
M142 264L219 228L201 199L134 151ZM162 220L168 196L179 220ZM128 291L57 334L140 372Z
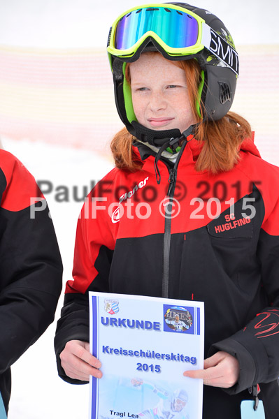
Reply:
M178 128L182 133L195 123L185 71L162 54L142 54L130 64L131 97L138 122L154 130Z

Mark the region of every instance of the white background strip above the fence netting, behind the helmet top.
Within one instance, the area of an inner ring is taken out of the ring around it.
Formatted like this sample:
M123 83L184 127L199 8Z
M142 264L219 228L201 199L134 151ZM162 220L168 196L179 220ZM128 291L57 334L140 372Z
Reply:
M108 29L116 17L128 8L145 3L148 1L1 0L0 43L29 47L105 47ZM189 4L206 8L220 17L236 45L279 42L277 0L198 0Z

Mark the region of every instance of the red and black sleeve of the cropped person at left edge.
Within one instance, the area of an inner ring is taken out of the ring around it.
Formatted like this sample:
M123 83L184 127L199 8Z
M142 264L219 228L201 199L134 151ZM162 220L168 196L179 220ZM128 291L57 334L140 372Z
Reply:
M34 177L0 150L0 374L52 323L62 260Z

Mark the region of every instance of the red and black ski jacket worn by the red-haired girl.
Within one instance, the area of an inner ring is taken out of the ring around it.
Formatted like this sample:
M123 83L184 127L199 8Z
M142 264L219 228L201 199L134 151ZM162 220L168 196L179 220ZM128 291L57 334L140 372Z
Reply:
M205 357L236 356L229 390L205 386L203 419L240 419L259 384L266 419L279 411L279 168L252 139L233 170L196 172L194 138L176 163L141 147L142 170L114 168L87 197L78 220L73 281L66 284L55 346L89 339L88 291L203 301ZM158 175L158 174L157 174ZM171 200L171 198L175 198Z

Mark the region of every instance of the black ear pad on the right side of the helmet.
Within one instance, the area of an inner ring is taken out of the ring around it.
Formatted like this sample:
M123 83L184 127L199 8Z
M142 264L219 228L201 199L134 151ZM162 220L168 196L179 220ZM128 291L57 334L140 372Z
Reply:
M210 86L210 89L208 88ZM206 65L201 92L206 119L217 121L229 112L236 91L236 74L230 68ZM222 106L220 106L222 104Z

